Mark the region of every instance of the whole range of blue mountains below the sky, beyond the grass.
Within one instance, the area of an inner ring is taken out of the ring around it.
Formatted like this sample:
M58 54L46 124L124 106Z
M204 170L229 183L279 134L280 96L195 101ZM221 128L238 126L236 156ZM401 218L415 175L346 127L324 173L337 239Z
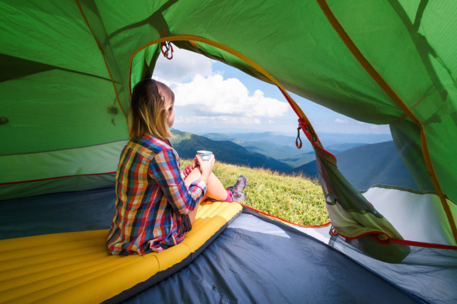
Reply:
M295 137L271 132L206 133L205 136L178 130L172 133L176 137L170 141L181 158L191 159L197 150L211 150L221 162L317 177L311 145L297 153ZM336 156L338 168L357 189L364 190L374 184L417 188L389 134L324 133L319 139L328 143L327 150Z

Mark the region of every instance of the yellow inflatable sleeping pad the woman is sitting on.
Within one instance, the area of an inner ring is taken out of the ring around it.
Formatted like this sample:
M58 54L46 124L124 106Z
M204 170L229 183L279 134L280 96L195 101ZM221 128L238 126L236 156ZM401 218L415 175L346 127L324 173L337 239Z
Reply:
M183 242L143 256L111 255L108 230L0 240L0 303L122 301L190 263L241 210L204 202Z

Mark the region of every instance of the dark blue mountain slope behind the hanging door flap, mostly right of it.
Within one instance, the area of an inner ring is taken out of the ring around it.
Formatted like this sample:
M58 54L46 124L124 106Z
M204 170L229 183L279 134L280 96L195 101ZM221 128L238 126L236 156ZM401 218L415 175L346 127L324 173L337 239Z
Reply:
M342 151L335 156L340 171L358 190L368 189L374 184L417 189L393 141L363 145ZM317 176L316 161L293 171Z

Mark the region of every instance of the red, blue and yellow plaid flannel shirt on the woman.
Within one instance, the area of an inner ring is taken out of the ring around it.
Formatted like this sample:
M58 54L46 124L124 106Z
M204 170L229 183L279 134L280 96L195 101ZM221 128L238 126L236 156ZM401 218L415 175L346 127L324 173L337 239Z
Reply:
M107 240L112 254L160 252L180 243L179 213L190 213L206 192L203 180L184 184L176 151L164 141L130 139L116 172L116 211Z

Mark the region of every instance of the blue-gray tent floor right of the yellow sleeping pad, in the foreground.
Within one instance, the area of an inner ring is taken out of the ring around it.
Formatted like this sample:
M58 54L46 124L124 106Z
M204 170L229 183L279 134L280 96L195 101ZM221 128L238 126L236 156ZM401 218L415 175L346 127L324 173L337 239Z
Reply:
M242 213L178 273L124 303L421 302L328 245Z

